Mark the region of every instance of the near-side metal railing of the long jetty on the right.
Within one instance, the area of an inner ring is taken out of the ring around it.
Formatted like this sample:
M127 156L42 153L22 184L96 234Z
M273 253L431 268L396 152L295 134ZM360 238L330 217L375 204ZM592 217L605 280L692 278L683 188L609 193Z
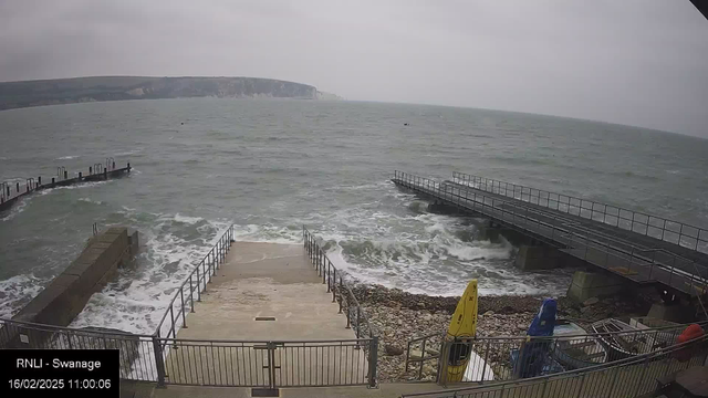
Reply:
M480 213L569 254L637 282L660 282L678 291L702 294L708 268L663 249L638 247L520 202L488 197L454 184L395 171L394 181L458 208ZM571 250L572 249L572 250Z

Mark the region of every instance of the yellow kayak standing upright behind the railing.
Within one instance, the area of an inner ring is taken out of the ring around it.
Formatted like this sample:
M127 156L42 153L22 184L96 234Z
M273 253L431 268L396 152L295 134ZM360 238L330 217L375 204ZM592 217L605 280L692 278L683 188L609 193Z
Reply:
M477 332L477 280L471 280L460 297L447 329L446 339L466 339L475 337ZM462 381L467 363L470 357L470 346L459 343L451 344L447 357L447 383Z

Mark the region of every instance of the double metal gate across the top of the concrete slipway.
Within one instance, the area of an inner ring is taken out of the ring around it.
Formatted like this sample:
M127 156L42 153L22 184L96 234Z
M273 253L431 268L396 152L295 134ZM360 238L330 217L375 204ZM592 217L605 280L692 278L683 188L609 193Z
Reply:
M165 384L279 387L376 386L377 338L309 342L160 339Z

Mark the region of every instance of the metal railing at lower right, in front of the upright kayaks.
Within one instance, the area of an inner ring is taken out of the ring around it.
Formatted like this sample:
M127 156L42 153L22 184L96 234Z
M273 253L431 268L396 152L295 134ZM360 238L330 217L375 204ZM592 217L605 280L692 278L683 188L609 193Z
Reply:
M704 328L708 326L708 322L698 324ZM445 385L446 358L464 354L469 358L468 366L477 371L461 381L483 384L556 374L671 346L688 325L572 336L476 337L447 342L445 334L430 334L408 341L406 373L415 366L414 377L423 379L424 363L429 363L437 370L433 375L436 381Z

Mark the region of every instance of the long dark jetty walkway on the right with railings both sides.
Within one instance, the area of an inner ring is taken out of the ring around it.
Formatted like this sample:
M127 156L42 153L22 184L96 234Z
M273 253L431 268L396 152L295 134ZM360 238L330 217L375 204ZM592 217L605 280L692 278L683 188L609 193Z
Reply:
M395 171L393 182L634 282L660 284L691 296L706 293L705 229L461 172L436 181Z

